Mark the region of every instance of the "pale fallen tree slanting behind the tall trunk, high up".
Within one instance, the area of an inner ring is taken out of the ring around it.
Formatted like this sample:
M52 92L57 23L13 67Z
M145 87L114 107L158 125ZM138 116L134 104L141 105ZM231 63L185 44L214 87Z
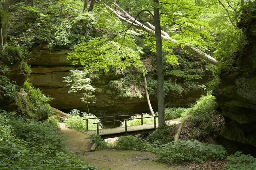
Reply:
M122 9L120 6L118 6L118 4L116 3L112 3L114 4L116 7L118 7L121 12L119 11L116 11L115 9L112 9L110 6L108 6L107 4L105 4L104 2L102 2L102 4L104 4L109 10L111 10L113 13L116 14L116 16L121 19L122 21L128 23L128 24L132 24L134 27L138 28L138 29L141 29L143 31L146 31L148 33L152 33L152 34L155 34L155 31L154 31L154 28L155 26L153 26L152 24L150 24L149 22L147 22L147 24L151 27L147 27L145 25L143 25L141 22L139 22L138 20L136 20L135 18L133 18L131 15L129 15L124 9ZM147 11L147 10L144 10L144 11ZM190 52L191 54L193 55L196 55L198 56L199 58L201 58L202 60L206 61L206 62L209 62L209 63L212 63L214 65L216 65L218 63L218 61L216 59L214 59L212 56L208 55L208 54L205 54L204 52L188 45L188 44L181 44L179 43L179 41L176 41L172 38L170 38L170 36L164 32L163 30L161 30L161 37L163 39L166 39L166 40L169 40L169 41L172 41L174 43L178 43L178 47L183 47L183 49L187 50L188 52Z

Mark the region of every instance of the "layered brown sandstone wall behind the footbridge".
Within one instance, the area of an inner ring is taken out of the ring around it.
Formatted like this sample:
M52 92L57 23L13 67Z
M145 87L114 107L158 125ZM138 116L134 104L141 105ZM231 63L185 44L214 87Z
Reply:
M68 76L69 70L83 69L80 66L72 65L71 61L66 60L66 56L71 52L68 49L54 49L49 51L47 45L44 44L33 48L32 58L28 62L31 65L32 73L29 77L30 82L39 87L45 95L49 95L54 100L51 106L68 113L71 109L79 109L87 111L86 104L80 100L82 94L68 93L69 87L63 83L63 77ZM111 80L121 78L122 74L116 73L96 73L99 77L92 81L92 85L96 88L93 93L96 97L95 103L89 104L90 112L96 116L108 116L119 114L138 114L148 112L148 104L146 98L122 98L116 97L116 92L108 88ZM188 107L194 103L197 98L203 94L202 90L190 91L180 98L166 99L166 107ZM151 104L157 111L156 97L151 98Z

